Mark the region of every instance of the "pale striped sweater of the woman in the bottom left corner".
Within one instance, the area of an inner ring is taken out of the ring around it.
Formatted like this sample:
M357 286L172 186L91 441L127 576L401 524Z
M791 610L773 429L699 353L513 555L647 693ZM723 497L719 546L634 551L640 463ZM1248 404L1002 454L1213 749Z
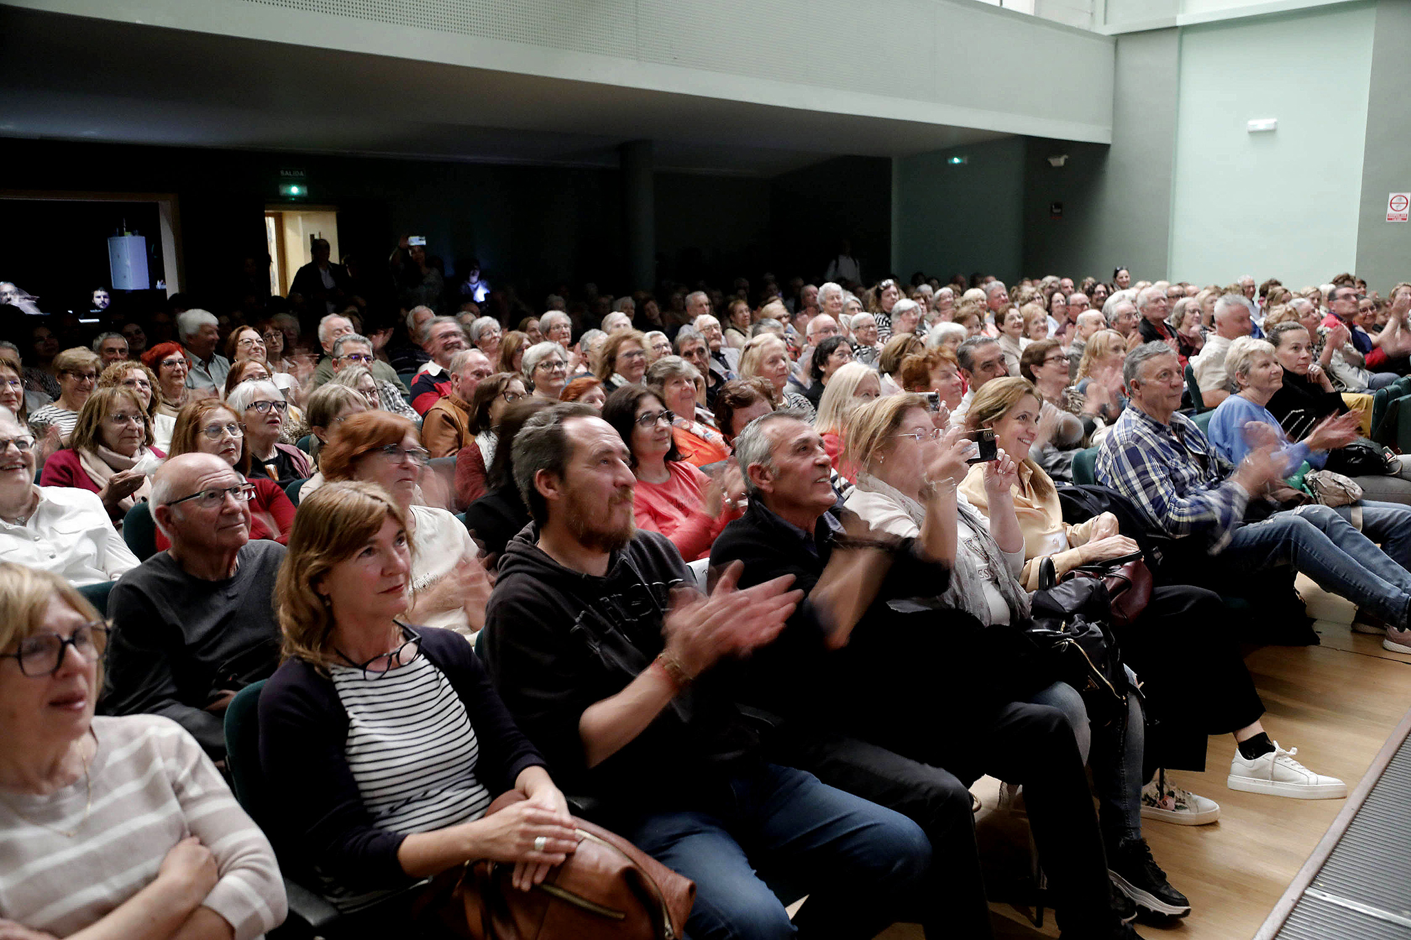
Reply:
M237 940L277 927L285 895L274 851L196 738L155 715L97 716L93 733L87 819L82 778L49 796L0 793L0 917L75 933L147 886L172 846L196 836L220 872L203 905ZM66 839L35 823L79 831Z

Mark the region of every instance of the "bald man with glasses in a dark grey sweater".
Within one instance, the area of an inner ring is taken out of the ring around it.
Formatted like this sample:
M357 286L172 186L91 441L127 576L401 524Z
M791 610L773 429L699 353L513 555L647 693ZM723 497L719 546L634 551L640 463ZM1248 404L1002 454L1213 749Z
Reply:
M226 706L279 665L274 582L284 545L250 540L254 486L214 454L172 457L152 517L172 547L113 586L107 715L165 715L224 760Z

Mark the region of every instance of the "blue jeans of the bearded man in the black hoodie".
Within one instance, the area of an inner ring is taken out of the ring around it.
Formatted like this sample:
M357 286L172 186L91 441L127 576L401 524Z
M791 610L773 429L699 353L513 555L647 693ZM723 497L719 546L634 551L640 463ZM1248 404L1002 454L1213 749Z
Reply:
M715 806L656 813L622 834L696 882L691 940L872 937L920 903L931 862L906 816L775 764L731 779ZM809 893L794 923L756 868Z

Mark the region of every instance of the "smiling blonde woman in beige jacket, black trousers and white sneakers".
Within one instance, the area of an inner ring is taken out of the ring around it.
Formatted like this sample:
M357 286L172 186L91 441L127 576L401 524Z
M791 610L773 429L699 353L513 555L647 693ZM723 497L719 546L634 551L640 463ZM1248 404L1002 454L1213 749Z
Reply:
M995 388L991 389L991 385ZM1024 568L1019 578L1027 590L1038 586L1038 568L1044 558L1053 561L1061 578L1078 565L1137 551L1136 543L1118 534L1118 520L1110 513L1078 526L1064 523L1053 479L1029 455L1038 421L1038 397L1029 382L986 382L975 400L981 407L976 412L971 406L968 427L993 428L1000 450L1020 462L1019 478L1010 492L1024 537ZM961 485L961 495L979 512L989 512L976 469L971 469ZM1199 643L1170 643L1173 634L1188 630L1192 623L1205 624ZM1257 771L1268 775L1278 758L1260 723L1264 705L1240 657L1236 626L1229 621L1218 595L1191 585L1157 586L1137 621L1115 630L1123 660L1141 676L1149 710L1157 719L1158 733L1149 743L1157 767L1204 771L1206 737L1233 734L1240 755L1230 767L1230 788L1250 789L1243 781ZM1284 760L1292 761L1288 757ZM1268 767L1254 767L1260 762ZM1219 817L1219 806L1213 800L1173 785L1165 779L1164 769L1157 771L1141 791L1143 816L1187 826ZM1315 774L1305 774L1309 781L1316 778ZM1342 795L1339 789L1346 792L1338 781L1331 781L1326 792ZM1316 791L1287 786L1273 792L1294 796Z

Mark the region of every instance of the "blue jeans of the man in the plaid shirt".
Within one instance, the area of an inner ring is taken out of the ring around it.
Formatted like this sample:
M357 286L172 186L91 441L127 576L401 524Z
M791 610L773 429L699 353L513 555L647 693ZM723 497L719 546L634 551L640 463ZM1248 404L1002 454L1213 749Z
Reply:
M1367 513L1363 516L1367 527ZM1398 527L1390 541L1395 545L1404 538ZM1395 627L1405 626L1411 572L1353 528L1336 509L1300 506L1240 526L1212 564L1221 565L1226 575L1292 565L1324 590L1348 598Z

